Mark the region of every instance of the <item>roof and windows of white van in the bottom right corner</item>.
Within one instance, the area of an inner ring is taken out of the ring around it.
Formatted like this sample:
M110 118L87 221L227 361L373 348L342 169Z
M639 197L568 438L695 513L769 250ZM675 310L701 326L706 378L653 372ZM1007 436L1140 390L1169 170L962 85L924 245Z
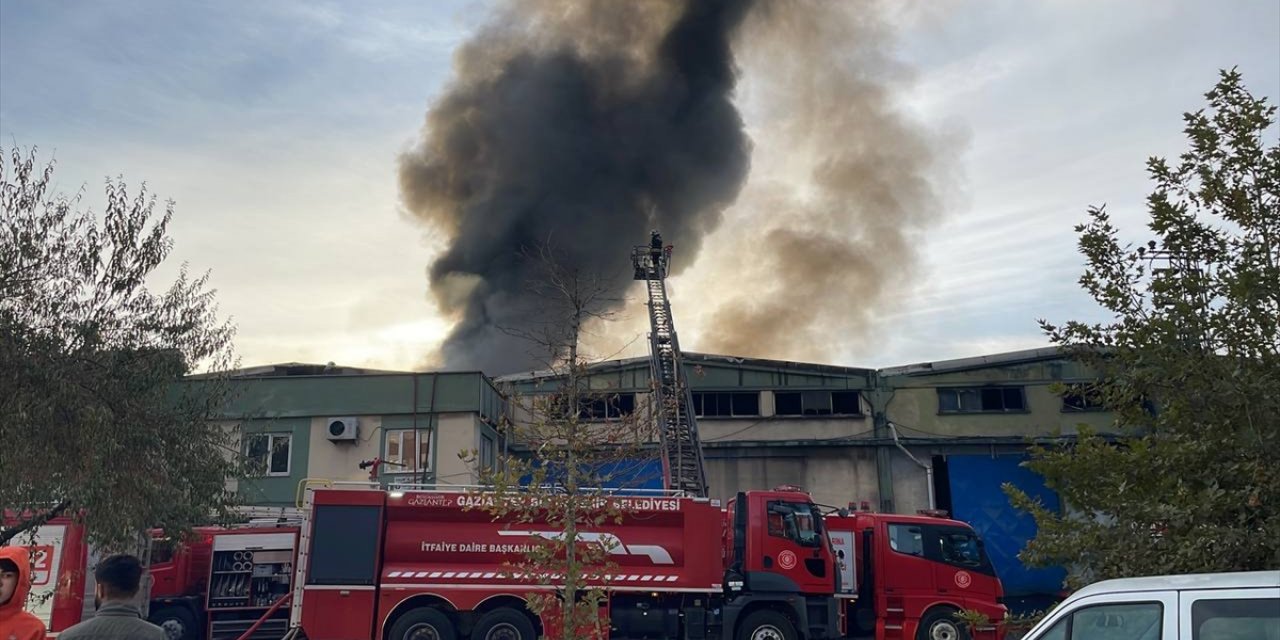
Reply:
M1105 580L1023 640L1280 640L1280 571Z

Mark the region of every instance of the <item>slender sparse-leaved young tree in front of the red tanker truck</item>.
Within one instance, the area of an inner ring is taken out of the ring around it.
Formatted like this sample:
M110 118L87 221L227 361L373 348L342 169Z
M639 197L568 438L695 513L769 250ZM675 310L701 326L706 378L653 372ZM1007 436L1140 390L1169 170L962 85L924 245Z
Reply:
M539 305L524 329L504 330L527 340L545 370L512 394L513 419L500 428L522 454L479 470L483 493L492 498L480 508L497 521L539 531L506 572L531 586L529 609L548 622L547 637L607 637L600 608L616 543L598 531L622 522L618 495L653 468L653 419L593 376L599 361L581 347L588 326L614 317L616 287L607 276L566 266L550 242L521 256L534 274L529 282ZM479 467L477 452L463 457Z

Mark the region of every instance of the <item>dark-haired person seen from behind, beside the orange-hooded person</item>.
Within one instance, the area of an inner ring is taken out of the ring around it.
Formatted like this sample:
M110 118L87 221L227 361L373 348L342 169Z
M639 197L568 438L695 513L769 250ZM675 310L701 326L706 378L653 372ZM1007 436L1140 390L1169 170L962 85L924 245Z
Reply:
M137 605L142 563L133 556L110 556L93 570L97 613L59 635L59 640L166 640L160 627L142 620Z

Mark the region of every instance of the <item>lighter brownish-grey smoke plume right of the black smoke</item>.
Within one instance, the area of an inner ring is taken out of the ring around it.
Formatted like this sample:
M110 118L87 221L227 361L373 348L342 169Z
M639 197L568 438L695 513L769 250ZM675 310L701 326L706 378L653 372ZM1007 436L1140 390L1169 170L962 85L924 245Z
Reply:
M759 105L749 123L760 133L727 214L735 224L713 238L750 247L749 259L709 255L681 283L716 305L695 349L847 364L906 297L941 209L948 145L899 102L911 74L890 56L883 9L768 3L744 24L742 91Z

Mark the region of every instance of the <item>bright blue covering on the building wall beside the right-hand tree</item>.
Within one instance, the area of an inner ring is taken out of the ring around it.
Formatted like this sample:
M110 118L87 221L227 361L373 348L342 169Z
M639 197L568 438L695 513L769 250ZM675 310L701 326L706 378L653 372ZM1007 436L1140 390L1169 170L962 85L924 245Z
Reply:
M1016 511L1001 489L1005 483L1038 497L1050 509L1059 508L1057 493L1044 479L1020 467L1025 456L947 456L951 480L951 511L956 520L973 525L982 536L1005 593L1010 596L1056 594L1066 571L1028 568L1018 559L1027 541L1036 536L1036 521Z

